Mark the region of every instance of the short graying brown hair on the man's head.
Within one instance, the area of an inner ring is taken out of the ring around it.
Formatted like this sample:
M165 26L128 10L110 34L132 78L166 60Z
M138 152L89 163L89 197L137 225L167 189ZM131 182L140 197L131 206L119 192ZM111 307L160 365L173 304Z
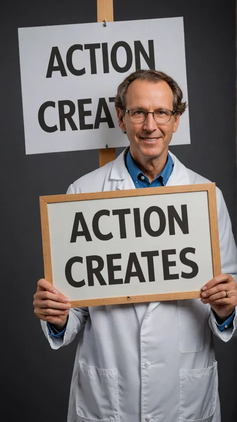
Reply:
M150 82L160 82L164 81L168 84L171 88L173 93L173 110L175 114L182 114L184 113L187 104L186 102L182 103L182 91L179 88L178 84L168 75L163 72L159 72L156 70L136 70L128 75L123 82L117 88L117 94L114 99L114 105L116 110L121 109L124 110L126 108L126 92L127 88L131 84L131 82L135 81L135 79L141 79L143 81L150 81Z

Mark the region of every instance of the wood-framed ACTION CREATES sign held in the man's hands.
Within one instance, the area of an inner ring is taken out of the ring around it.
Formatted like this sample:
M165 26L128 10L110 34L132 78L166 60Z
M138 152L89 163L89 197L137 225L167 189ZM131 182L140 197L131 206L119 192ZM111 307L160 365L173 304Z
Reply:
M72 307L200 297L221 273L215 185L40 197L45 279Z

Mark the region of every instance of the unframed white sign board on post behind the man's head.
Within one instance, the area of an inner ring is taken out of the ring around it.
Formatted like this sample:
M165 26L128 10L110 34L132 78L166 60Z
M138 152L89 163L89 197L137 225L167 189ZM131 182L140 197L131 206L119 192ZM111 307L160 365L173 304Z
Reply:
M187 101L182 18L19 28L26 154L125 147L117 86L135 69L156 69ZM171 145L189 144L188 110Z

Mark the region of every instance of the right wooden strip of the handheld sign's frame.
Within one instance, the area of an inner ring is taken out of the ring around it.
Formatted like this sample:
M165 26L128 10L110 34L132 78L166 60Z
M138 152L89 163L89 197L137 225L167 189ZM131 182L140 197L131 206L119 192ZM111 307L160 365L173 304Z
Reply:
M211 183L207 191L207 195L208 195L208 207L209 207L212 267L213 267L213 276L215 277L221 274L215 183Z

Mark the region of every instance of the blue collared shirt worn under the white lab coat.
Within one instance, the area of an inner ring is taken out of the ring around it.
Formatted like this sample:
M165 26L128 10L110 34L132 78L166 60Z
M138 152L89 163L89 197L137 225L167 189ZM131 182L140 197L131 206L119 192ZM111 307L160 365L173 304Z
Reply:
M154 180L152 180L152 182L149 182L148 178L137 167L136 163L134 162L131 156L130 150L126 154L125 165L126 165L129 175L131 176L133 180L135 188L154 188L157 186L165 186L173 170L173 162L169 154L168 154L167 161L163 170L161 170L161 172L158 174L158 176ZM220 325L217 324L216 322L218 329L220 331L224 331L227 328L231 327L233 324L234 315L235 315L235 311L233 311L232 315L230 315L228 319L226 319L226 321L224 321ZM48 326L49 335L51 335L52 337L61 337L61 338L63 337L65 328L63 329L63 331L57 331L48 322L47 322L47 326Z

